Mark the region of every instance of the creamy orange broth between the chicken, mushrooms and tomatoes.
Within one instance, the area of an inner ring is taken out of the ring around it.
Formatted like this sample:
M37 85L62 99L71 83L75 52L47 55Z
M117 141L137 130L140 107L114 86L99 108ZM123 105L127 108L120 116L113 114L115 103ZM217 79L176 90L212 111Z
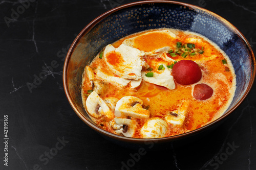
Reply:
M197 64L199 64L202 70L202 79L198 83L191 85L180 85L178 83L175 83L176 88L173 90L147 83L143 80L141 85L136 88L136 90L132 90L130 88L130 84L127 88L120 88L114 86L111 83L106 83L108 85L108 91L100 95L101 99L111 96L119 100L123 96L136 96L143 101L142 107L150 111L150 118L159 117L163 120L166 114L177 110L180 107L182 101L188 101L189 107L187 109L187 116L185 118L184 125L182 127L176 127L168 123L167 133L165 134L165 137L195 130L214 121L215 119L220 117L228 108L230 102L232 101L234 91L236 90L236 76L234 75L233 66L229 58L225 55L223 51L220 50L217 45L215 45L213 42L209 41L205 37L195 33L183 32L179 30L171 31L176 34L176 38L169 38L165 34L161 33L144 35L134 41L134 47L138 48L141 51L150 52L164 46L170 46L175 49L176 42L182 42L182 44L187 43L187 38L197 38L201 40L193 43L195 44L196 48L201 49L203 47L203 54L197 54L195 56L187 56L186 58L183 58L181 57L181 55L177 55L177 57L171 57L167 53L168 57L176 61L193 60ZM127 36L118 40L112 45L114 47L118 47L125 39L135 37L141 34L142 33L137 33ZM105 68L105 73L110 74L108 66L106 66L103 59L100 59L98 56L99 55L95 57L93 62L90 64L90 67L93 68L94 71L97 70L97 68L99 67ZM112 57L112 62L118 62L116 56ZM222 63L223 59L226 59L227 64ZM144 57L144 60L147 62L148 65L151 65L152 60L159 60L159 62L166 65L174 63L166 62L161 58L156 59L154 57ZM152 68L157 71L157 68ZM172 71L170 72L172 74ZM90 81L85 75L83 75L83 79L84 81L82 84L82 92L84 94L82 94L82 98L83 100L86 100L88 94L85 93L88 90L92 89L89 86ZM209 99L200 101L193 98L194 86L199 83L208 84L214 90L214 93ZM92 117L92 119L102 129L115 133L115 131L111 128L109 124L111 119L105 116L101 116L100 118ZM131 119L136 120L138 123L135 135L133 137L142 138L140 129L147 119L138 119L133 117L131 117Z

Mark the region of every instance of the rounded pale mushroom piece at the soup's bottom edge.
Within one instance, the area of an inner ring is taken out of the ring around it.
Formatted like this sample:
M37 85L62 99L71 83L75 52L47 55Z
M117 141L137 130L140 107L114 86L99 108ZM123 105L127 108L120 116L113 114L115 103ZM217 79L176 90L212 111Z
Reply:
M167 123L158 117L153 117L148 119L143 127L141 128L140 132L143 138L159 138L164 137L167 131Z

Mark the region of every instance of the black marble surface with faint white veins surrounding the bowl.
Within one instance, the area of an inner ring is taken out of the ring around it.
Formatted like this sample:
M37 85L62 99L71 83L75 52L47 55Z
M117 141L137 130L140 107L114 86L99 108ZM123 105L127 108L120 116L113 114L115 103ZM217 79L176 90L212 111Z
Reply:
M140 156L102 138L72 110L62 85L67 47L95 17L131 2L0 1L0 169L256 169L256 84L227 121L204 138ZM181 2L224 17L256 51L256 1ZM38 79L42 75L44 80Z

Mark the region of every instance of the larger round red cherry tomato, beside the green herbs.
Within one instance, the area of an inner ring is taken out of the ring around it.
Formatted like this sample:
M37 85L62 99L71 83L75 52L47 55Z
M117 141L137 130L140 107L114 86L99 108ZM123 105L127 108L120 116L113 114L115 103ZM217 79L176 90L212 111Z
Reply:
M202 78L202 71L195 61L180 60L173 66L173 77L179 84L194 84Z

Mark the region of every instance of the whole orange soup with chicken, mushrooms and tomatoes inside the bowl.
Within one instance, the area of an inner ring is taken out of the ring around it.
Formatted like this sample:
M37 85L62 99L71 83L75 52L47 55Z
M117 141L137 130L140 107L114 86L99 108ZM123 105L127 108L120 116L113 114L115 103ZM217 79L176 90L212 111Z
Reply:
M81 98L100 128L160 138L219 118L235 90L232 63L216 44L192 32L157 29L102 49L84 68Z

